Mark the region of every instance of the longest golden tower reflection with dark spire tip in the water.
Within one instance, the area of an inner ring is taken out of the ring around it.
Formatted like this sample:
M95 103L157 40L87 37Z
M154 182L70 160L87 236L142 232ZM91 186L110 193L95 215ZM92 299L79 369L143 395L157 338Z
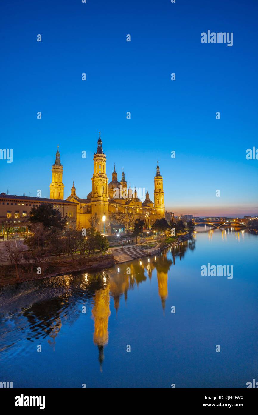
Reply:
M104 360L104 346L109 341L109 316L111 314L109 308L109 284L102 290L97 290L94 297L94 307L92 309L92 316L94 318L94 335L93 342L99 348L99 363L102 371L102 364Z

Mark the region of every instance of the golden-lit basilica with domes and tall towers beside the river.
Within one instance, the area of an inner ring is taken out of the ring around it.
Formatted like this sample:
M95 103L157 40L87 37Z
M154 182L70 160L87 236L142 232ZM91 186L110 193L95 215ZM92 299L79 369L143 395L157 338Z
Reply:
M105 232L105 226L114 222L119 217L119 212L125 215L133 215L133 221L142 219L145 221L145 228L149 229L156 219L165 216L163 178L157 164L154 176L154 203L149 198L147 190L145 200L142 202L137 195L136 188L133 190L125 179L122 171L121 180L118 181L114 165L112 181L106 175L106 154L102 148L102 140L99 133L96 153L93 157L94 171L92 176L92 190L87 198L80 198L76 194L73 183L71 194L66 200L76 203L76 224L78 228L87 228L94 223L100 232ZM63 166L60 162L59 150L56 153L55 163L52 166L52 183L50 184L50 198L64 198ZM94 219L95 218L95 219ZM117 220L116 220L117 222ZM133 222L132 225L133 226Z

